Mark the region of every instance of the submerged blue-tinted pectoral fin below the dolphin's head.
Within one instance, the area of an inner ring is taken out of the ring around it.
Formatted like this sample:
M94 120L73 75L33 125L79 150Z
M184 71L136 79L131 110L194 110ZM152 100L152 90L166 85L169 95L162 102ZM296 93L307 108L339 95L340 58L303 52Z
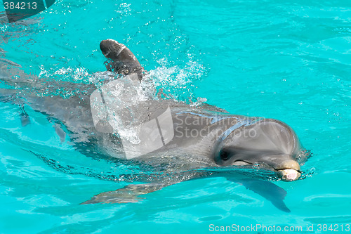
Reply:
M284 188L280 188L270 181L263 181L253 178L242 178L242 179L228 179L229 181L239 183L242 186L245 186L249 190L265 197L265 199L272 202L274 207L282 210L283 212L290 213L290 209L286 207L284 203L284 198L286 196L286 190Z

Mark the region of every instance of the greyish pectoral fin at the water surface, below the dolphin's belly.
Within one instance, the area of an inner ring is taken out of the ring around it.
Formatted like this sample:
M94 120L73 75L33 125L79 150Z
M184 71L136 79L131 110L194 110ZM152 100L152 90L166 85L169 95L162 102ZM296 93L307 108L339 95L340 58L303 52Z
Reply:
M139 197L140 195L152 193L170 185L170 183L131 184L124 188L95 195L91 200L87 200L81 204L140 202L144 199L143 197Z

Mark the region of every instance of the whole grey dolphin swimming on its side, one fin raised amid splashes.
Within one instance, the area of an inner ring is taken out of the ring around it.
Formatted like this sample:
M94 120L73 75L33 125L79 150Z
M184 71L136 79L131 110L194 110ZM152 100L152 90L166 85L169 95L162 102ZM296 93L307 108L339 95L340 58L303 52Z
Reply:
M137 202L140 195L174 183L224 176L290 212L284 189L240 171L258 168L282 181L297 180L307 156L291 127L276 119L230 115L206 103L195 107L148 98L142 85L147 72L133 53L112 39L101 41L100 49L108 59L103 84L51 80L48 87L35 76L13 79L14 74L24 77L24 72L0 66L0 78L8 85L0 89L0 100L21 106L23 126L30 122L23 108L29 105L54 119L62 141L68 134L86 155L93 152L93 157L105 155L169 175L141 176L143 184L100 193L82 204ZM69 95L48 95L57 88Z

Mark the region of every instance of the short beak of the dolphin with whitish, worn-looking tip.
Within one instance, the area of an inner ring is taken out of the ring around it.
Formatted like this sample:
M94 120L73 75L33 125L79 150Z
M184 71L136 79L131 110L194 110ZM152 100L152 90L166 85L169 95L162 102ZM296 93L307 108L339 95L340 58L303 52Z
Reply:
M300 165L294 160L286 160L274 168L282 181L296 181L300 178Z

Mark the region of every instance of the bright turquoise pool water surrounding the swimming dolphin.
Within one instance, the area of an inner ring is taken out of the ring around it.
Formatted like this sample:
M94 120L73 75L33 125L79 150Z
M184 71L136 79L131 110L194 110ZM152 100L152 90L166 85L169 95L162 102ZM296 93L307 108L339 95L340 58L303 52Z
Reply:
M108 179L122 169L60 143L33 110L22 128L18 107L0 103L0 233L216 233L211 224L256 223L341 233L351 223L350 15L350 1L75 0L23 22L1 18L0 59L28 74L88 82L105 70L98 44L116 39L166 93L280 119L313 156L305 179L274 182L291 213L225 178L178 183L140 203L79 205L126 186Z

